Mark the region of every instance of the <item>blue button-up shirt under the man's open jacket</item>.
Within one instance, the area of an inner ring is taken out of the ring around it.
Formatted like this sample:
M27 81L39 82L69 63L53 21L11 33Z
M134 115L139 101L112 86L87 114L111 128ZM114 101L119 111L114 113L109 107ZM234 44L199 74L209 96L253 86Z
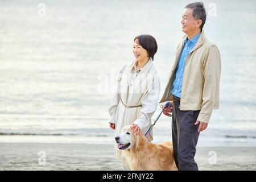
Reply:
M184 46L180 55L179 63L176 67L176 78L174 84L172 84L171 93L176 97L181 97L181 88L183 81L183 73L185 68L186 59L189 53L192 51L193 47L196 45L197 40L199 39L201 33L197 34L191 40L188 40L188 37L185 39Z

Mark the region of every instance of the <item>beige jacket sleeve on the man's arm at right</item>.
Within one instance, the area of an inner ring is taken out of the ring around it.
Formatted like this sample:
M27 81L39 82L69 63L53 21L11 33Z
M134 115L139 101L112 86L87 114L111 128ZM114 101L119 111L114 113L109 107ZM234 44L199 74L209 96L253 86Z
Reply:
M221 57L216 46L211 46L207 57L204 60L204 84L203 84L203 104L197 117L197 121L209 123L212 115L213 105L216 98L219 98Z

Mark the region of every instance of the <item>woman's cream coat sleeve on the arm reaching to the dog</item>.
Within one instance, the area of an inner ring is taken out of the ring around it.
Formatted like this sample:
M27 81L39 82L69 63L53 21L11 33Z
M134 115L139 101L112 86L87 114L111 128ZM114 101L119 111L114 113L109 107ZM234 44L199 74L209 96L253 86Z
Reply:
M133 124L138 125L141 130L151 123L151 117L155 113L159 103L159 94L160 79L158 75L155 75L152 85L141 100L142 108L139 111L139 117L133 122Z

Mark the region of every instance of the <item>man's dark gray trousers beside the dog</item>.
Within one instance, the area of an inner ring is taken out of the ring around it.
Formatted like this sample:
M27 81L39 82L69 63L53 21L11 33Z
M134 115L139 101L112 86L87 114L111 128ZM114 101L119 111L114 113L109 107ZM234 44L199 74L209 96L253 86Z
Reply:
M195 162L199 124L194 125L200 110L180 110L180 102L174 101L172 115L172 143L174 159L180 171L198 171Z

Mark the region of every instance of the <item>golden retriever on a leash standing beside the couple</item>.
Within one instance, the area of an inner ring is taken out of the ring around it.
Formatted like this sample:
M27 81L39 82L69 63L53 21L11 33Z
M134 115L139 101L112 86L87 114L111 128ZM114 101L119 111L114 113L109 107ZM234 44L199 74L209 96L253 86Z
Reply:
M148 142L141 133L134 134L130 125L122 128L115 141L132 171L177 171L171 142Z

